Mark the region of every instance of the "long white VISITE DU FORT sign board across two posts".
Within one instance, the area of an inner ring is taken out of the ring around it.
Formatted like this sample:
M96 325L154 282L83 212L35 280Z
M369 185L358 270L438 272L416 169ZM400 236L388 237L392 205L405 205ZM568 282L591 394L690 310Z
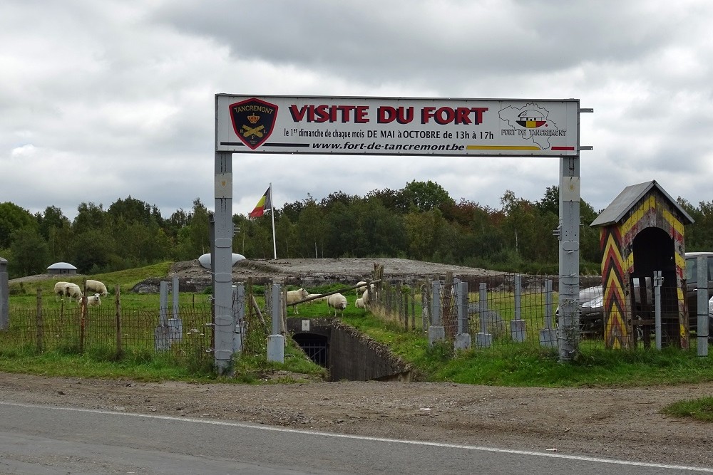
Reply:
M215 95L215 151L562 157L578 99Z

